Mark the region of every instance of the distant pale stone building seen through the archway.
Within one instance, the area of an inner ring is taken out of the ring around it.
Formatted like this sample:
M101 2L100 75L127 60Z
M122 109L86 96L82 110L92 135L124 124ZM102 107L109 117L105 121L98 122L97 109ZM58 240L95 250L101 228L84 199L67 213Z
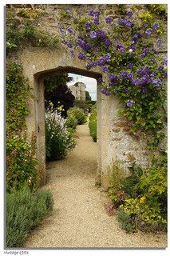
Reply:
M76 82L73 86L69 86L73 96L79 101L85 101L85 88L84 82Z

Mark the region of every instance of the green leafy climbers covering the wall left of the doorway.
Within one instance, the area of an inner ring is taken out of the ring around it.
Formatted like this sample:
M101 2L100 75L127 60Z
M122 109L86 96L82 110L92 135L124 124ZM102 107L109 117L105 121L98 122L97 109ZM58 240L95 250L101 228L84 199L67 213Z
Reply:
M26 140L27 99L30 86L22 74L22 66L9 62L6 69L6 190L30 186L38 182L37 160L34 158L36 134Z

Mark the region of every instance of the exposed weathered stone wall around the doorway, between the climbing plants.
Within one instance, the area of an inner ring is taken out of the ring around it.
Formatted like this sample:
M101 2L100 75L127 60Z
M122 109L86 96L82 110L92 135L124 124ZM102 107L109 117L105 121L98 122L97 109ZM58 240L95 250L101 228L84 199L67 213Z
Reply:
M115 5L11 5L18 11L23 7L38 8L45 10L45 14L38 20L38 28L50 33L59 33L62 26L68 26L64 19L58 19L59 10L72 8L78 10L79 14L88 13L89 10L99 8L105 14L114 14L117 19ZM104 8L105 7L105 8ZM141 5L136 5L140 11ZM22 18L18 16L22 23ZM167 51L167 38L164 37L162 54ZM33 88L34 98L30 99L30 114L27 117L28 137L32 130L38 133L37 157L39 160L40 184L45 184L45 120L44 120L44 84L46 75L63 73L74 73L86 75L92 78L101 77L98 69L86 70L85 62L77 58L77 53L72 58L65 46L59 45L55 49L45 49L33 46L22 46L18 52L11 54L11 59L22 63L23 71L29 78L30 86ZM121 104L113 96L106 97L101 94L100 86L97 86L97 152L98 168L97 182L102 186L108 186L108 166L115 160L120 159L127 167L131 162L145 166L147 164L148 150L143 139L132 137L128 134L128 126L125 118L117 111Z

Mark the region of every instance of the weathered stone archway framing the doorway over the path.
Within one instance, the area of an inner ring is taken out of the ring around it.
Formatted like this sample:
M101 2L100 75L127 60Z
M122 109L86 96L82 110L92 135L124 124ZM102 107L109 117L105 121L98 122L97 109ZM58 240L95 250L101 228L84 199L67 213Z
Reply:
M37 137L37 158L38 170L40 174L40 186L45 184L45 119L44 119L44 78L61 73L81 74L91 78L100 78L99 70L89 71L85 68L85 62L77 58L71 58L69 52L65 49L45 50L41 48L26 48L20 51L20 62L22 62L23 72L30 80L30 86L33 89L34 98L30 99L30 114L26 118L27 134L30 138L32 131L35 130ZM102 98L103 97L103 98ZM97 85L97 182L101 182L104 174L103 153L109 141L109 133L103 129L103 123L106 114L102 116L102 109L105 107L105 95L101 95L101 88ZM105 111L104 111L105 112ZM102 142L101 142L102 138ZM102 152L102 155L101 155ZM106 155L105 155L106 157Z

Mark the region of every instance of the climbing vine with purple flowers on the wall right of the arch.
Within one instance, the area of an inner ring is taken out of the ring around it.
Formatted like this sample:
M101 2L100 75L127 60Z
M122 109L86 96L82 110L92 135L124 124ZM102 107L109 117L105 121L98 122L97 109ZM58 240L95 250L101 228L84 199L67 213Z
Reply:
M77 58L87 62L88 70L101 68L102 93L120 99L120 114L128 118L131 134L153 135L148 143L156 148L164 138L167 118L167 59L159 54L164 24L148 10L122 10L121 5L122 16L116 19L97 9L84 16L67 11L70 25L63 32L63 43L72 56L79 50Z

